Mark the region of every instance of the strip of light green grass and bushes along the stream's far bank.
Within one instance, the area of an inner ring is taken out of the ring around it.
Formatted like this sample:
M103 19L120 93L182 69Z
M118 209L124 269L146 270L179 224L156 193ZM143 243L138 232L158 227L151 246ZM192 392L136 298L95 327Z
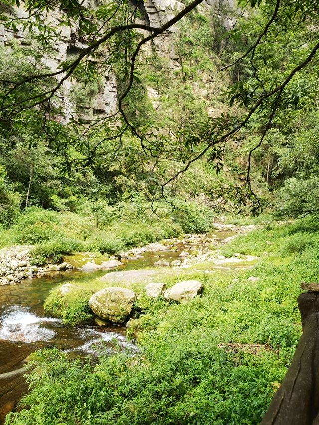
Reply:
M156 213L148 204L123 204L118 208L91 203L77 213L57 212L31 207L21 214L9 229L0 227L0 248L32 245L33 262L44 265L59 263L63 256L90 251L114 254L132 247L147 245L185 233L211 230L214 217L211 209L183 201L180 209L167 203L157 205ZM235 224L265 224L273 217L259 218L232 215L223 221Z

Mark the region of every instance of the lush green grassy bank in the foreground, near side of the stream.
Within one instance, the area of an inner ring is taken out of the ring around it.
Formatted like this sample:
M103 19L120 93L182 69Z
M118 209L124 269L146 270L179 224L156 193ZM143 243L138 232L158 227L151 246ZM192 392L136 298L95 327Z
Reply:
M145 283L128 283L139 293L129 335L141 352L115 353L95 366L57 350L39 352L27 409L10 414L6 424L258 424L301 334L300 282L319 277L318 221L238 237L223 248L225 255L235 252L262 260L240 272L193 266L159 277L168 287L184 278L202 281L203 297L188 304L150 301ZM247 281L251 275L259 280ZM98 280L81 284L73 311L58 304L56 292L47 305L76 322L87 312L85 296L100 287Z

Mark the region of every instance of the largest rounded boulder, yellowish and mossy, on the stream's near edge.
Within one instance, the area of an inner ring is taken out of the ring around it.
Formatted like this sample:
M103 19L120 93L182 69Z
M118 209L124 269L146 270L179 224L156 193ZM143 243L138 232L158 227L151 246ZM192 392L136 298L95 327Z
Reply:
M135 292L130 289L113 286L92 295L89 307L102 319L123 323L132 312L135 298Z

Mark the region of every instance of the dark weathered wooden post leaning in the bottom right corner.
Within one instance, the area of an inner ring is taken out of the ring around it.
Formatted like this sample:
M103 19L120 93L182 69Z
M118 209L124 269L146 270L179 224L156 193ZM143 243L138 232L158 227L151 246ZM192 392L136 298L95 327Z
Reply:
M303 334L261 425L319 425L319 292L298 297Z

